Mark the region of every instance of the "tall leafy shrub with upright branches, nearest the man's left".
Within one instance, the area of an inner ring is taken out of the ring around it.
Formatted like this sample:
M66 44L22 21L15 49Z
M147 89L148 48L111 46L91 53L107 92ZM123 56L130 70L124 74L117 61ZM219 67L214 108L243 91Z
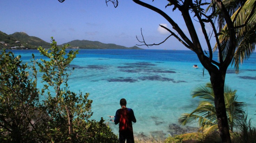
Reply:
M52 38L50 49L39 47L40 53L47 57L37 62L42 72L42 83L44 87L41 94L45 95L43 107L45 107L50 119L47 137L52 142L93 142L117 141L117 136L111 129L100 122L89 121L92 116L92 100L88 99L89 93L85 95L80 92L78 95L69 90L68 73L70 62L76 57L78 50L66 53L68 45L58 47L57 42ZM72 69L74 70L74 68Z

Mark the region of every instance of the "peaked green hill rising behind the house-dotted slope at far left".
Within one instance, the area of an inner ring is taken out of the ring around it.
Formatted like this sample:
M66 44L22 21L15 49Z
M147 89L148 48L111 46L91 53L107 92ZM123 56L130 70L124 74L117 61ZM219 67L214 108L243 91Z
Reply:
M50 43L45 42L44 40L42 40L38 37L29 36L28 34L26 34L24 32L15 32L10 35L13 36L15 39L17 39L18 41L20 41L21 43L32 45L35 48L37 48L39 46L44 47L44 48L50 47Z

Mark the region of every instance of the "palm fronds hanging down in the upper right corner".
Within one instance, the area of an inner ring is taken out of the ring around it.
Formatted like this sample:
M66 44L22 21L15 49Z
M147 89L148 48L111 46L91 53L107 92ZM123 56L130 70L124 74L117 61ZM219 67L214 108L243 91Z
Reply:
M239 72L239 64L243 63L250 57L255 50L256 45L256 0L223 0L225 7L228 9L233 20L236 30L236 50L232 65ZM210 10L212 4L209 5L207 11ZM227 25L220 10L216 9L216 21L219 23L219 42L222 48L222 57L226 58L230 36L227 34ZM218 50L217 44L214 50Z

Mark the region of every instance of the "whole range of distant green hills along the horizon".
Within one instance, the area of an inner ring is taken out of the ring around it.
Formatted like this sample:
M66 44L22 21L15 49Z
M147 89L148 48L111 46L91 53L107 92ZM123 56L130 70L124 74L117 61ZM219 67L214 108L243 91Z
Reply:
M99 41L73 40L62 45L69 44L70 49L142 49L137 46L125 47L116 44L105 44ZM0 31L0 49L37 49L39 46L49 48L50 43L24 32L6 34Z

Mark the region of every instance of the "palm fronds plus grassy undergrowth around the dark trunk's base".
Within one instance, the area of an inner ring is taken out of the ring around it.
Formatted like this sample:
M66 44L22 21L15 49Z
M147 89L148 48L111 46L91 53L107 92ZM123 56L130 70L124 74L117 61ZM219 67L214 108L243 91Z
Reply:
M217 131L217 118L214 108L214 93L210 83L196 86L191 95L199 98L199 106L191 113L184 113L179 118L179 123L186 125L197 122L200 127L196 133L180 134L169 136L164 143L196 142L196 143L216 143L221 142ZM236 101L236 90L225 86L225 103L230 125L231 141L234 143L254 143L256 142L256 128L251 125L251 119L247 119L245 104Z

